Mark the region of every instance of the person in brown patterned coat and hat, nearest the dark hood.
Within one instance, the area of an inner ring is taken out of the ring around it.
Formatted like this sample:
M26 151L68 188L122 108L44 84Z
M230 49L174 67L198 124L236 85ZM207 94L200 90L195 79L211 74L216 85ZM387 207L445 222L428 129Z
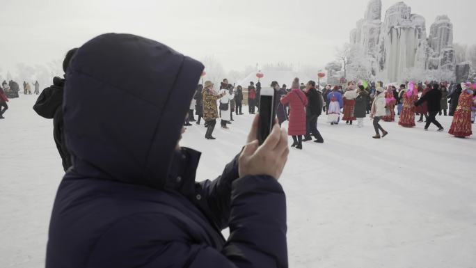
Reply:
M203 120L207 125L207 132L205 133L205 139L214 140L213 130L216 125L216 118L218 115L218 107L216 107L216 100L221 99L225 93L216 93L213 89L214 84L212 81L205 81L203 86Z

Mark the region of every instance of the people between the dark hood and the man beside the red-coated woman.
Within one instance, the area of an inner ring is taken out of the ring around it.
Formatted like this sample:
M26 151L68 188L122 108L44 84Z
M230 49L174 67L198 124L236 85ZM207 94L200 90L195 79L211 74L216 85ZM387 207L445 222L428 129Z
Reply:
M316 88L316 82L308 81L308 84L304 85L299 84L299 78L296 78L289 90L285 84L280 86L278 81L273 81L270 86L275 92L274 109L278 124L289 120L287 131L294 141L292 147L302 149L303 141L312 140L312 136L315 137L316 143L324 143L317 130L317 119L323 111L325 102L322 91ZM251 81L247 99L248 113L251 115L254 115L260 107L260 93L260 81L256 85ZM221 120L222 129L230 129L228 125L234 121L233 114L235 116L244 114L243 99L243 88L229 84L228 79L223 79L218 91L214 89L212 81L205 81L204 85L199 84L196 89L184 126L191 126L191 122L200 125L203 118L207 127L205 139L214 140L216 138L212 134L216 120Z

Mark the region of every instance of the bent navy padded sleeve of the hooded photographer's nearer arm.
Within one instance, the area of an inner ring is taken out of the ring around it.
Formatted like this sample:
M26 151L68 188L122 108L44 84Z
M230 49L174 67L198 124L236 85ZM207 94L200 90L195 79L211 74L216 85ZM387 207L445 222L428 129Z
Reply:
M230 237L215 249L197 229L158 213L127 216L106 230L85 267L286 268L286 200L267 175L232 182ZM199 235L198 235L199 236Z

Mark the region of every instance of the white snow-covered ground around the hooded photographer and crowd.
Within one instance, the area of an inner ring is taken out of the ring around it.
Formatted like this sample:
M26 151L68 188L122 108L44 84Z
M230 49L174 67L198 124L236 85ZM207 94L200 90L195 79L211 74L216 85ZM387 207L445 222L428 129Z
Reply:
M49 216L63 175L51 120L11 100L0 120L0 267L43 267ZM247 107L244 107L247 110ZM244 145L252 117L235 116L216 141L193 125L182 145L203 152L197 180L212 179ZM445 129L451 118L438 117ZM476 267L476 139L423 123L331 127L324 144L291 149L287 194L289 267ZM291 139L289 139L291 140Z

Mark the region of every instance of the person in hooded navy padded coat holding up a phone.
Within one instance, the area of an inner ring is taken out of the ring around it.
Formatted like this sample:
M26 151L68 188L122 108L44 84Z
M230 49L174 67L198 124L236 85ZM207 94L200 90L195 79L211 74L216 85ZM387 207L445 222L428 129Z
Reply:
M177 145L203 68L127 34L79 48L63 106L73 166L51 212L46 268L288 267L276 180L285 132L276 125L258 146L255 117L241 154L200 183L200 152Z

